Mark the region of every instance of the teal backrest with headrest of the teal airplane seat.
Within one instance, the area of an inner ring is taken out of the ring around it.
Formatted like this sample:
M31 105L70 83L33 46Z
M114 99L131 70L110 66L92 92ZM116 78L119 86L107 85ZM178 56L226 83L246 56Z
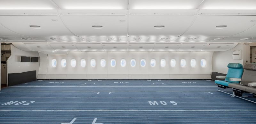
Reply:
M230 81L229 78L241 78L243 75L243 72L244 72L244 69L242 64L229 63L228 73L225 80L231 83L240 83L239 81Z

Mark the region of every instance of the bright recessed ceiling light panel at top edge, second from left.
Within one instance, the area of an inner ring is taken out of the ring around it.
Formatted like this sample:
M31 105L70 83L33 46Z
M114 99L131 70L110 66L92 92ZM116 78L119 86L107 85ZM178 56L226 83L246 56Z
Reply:
M66 10L121 10L127 9L127 0L53 0Z

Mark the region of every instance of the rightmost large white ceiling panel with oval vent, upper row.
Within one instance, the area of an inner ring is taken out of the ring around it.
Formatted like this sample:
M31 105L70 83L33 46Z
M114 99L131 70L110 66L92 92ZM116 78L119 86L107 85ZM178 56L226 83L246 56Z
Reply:
M198 15L194 24L182 36L221 37L232 36L252 27L256 16ZM216 26L227 27L218 28Z

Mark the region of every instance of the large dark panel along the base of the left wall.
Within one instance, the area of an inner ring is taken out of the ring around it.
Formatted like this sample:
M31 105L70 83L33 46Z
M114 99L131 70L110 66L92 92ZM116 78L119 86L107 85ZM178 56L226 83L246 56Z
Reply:
M8 86L27 83L36 80L36 70L8 74Z

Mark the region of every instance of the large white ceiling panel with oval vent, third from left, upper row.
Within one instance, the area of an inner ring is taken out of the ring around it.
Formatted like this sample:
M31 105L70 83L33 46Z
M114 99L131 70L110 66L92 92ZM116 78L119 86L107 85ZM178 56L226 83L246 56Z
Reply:
M194 15L131 15L129 16L129 35L131 37L177 37L188 29L194 18Z

